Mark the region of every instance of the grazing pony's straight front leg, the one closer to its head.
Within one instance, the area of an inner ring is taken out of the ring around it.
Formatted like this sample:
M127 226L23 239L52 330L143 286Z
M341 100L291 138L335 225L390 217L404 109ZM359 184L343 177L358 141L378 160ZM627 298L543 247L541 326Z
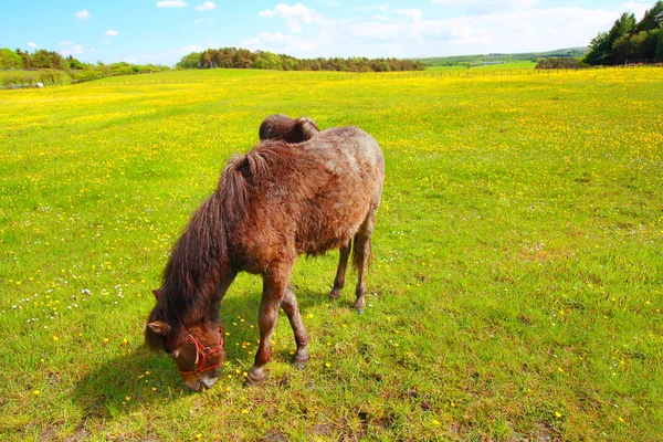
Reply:
M285 272L273 271L263 275L263 294L257 317L260 344L253 367L249 370L248 383L259 383L265 379L264 366L272 359L272 333L276 325L281 302L285 296L288 278L290 269Z

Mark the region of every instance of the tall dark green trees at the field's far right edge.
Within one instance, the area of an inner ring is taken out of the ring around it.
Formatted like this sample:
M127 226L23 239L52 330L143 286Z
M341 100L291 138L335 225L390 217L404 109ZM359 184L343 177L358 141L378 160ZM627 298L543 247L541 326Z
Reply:
M591 41L583 61L590 65L663 62L663 1L648 10L640 22L633 13L624 12L610 31Z

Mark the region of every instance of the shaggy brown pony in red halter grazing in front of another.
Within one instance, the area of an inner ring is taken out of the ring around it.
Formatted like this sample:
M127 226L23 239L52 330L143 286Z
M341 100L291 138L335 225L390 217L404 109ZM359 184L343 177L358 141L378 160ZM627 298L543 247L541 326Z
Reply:
M324 130L295 145L265 141L232 159L172 250L155 291L146 343L170 354L188 387L210 388L224 356L219 304L238 272L245 271L263 278L260 345L248 382L265 378L280 307L295 335L295 364L304 368L308 335L288 285L295 261L340 249L329 294L338 297L354 242L355 308L362 311L383 178L380 147L356 127Z

